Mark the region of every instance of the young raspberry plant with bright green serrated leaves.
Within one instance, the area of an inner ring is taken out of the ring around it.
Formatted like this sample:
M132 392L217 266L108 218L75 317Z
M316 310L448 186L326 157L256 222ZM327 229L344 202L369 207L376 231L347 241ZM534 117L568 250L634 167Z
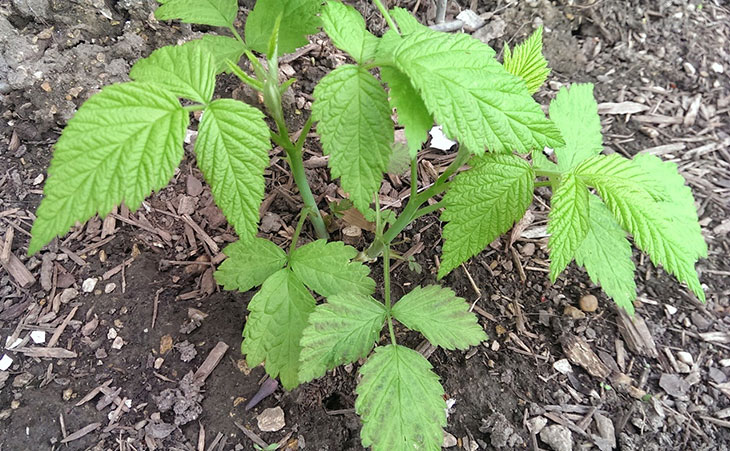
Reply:
M391 299L391 243L420 216L443 210L442 279L507 232L531 204L536 186L549 186L552 281L575 260L632 312L631 235L655 264L704 300L694 266L707 247L689 187L674 164L655 156L602 154L590 84L562 88L546 117L532 97L549 73L541 29L513 50L505 46L500 64L489 46L433 31L403 9L387 11L379 0L374 3L389 26L382 37L367 31L354 8L336 1L258 0L245 38L233 26L236 0L160 3L160 20L220 27L231 36L158 49L134 65L133 81L108 86L79 108L56 144L29 252L115 205L138 208L173 176L190 113L201 111L197 163L240 238L225 248L228 258L216 278L228 290L260 287L248 305L241 350L250 365L264 363L286 389L367 359L355 403L364 446L439 449L443 439L443 388L421 354L397 343L394 320L445 349L486 339L468 303L448 288L417 287ZM311 117L292 140L281 96L295 80L279 82L278 57L320 28L353 63L320 81ZM248 72L239 66L241 58ZM261 93L273 129L259 109L213 99L223 71ZM393 109L405 129L405 150L394 146ZM307 183L302 149L315 122L332 176L376 223L374 240L360 255L327 241ZM419 190L418 151L434 122L458 140L459 150L445 172ZM286 151L303 203L288 251L256 237L271 142ZM545 148L554 150L555 161ZM410 162L412 189L395 215L379 207L376 193L389 165L403 159ZM299 246L307 219L318 239ZM382 302L373 297L376 284L363 263L381 256ZM390 343L373 351L386 325Z

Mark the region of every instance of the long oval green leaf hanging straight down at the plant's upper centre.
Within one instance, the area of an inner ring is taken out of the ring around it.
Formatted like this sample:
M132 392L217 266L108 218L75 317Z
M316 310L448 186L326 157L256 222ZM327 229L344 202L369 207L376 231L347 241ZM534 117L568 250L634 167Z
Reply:
M393 143L388 95L362 67L340 66L314 88L312 115L319 121L333 177L355 207L367 210L380 188Z

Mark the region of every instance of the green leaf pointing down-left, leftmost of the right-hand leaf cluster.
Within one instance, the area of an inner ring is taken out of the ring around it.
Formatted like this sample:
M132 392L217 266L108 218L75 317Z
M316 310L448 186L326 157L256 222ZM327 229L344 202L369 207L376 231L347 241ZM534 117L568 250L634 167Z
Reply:
M444 196L444 247L438 277L481 252L525 214L532 202L535 173L514 155L474 158Z

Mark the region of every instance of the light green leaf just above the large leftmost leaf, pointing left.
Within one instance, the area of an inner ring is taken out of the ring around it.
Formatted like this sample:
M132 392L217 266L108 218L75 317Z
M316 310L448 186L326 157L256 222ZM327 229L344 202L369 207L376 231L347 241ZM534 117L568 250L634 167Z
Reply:
M208 103L215 89L215 60L201 45L168 45L137 61L129 78L154 83L178 97Z

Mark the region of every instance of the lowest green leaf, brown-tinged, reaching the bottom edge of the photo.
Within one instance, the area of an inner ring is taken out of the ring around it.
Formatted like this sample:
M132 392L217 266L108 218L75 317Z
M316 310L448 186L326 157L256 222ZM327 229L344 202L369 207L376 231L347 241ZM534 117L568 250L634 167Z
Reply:
M444 440L444 389L421 354L398 345L375 348L360 368L355 411L360 438L373 451L439 450Z

